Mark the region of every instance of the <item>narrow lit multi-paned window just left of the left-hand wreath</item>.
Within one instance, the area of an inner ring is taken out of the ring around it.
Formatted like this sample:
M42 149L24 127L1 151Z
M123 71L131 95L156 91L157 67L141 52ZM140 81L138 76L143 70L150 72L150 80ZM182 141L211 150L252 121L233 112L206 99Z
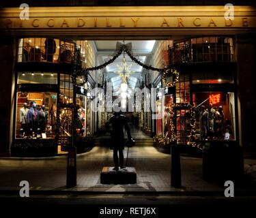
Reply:
M69 74L60 74L59 103L73 103L73 84Z

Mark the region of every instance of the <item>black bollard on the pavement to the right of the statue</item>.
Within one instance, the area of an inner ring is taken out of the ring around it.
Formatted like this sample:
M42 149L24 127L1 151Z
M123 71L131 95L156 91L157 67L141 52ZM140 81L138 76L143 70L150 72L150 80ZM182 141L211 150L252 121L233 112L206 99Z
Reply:
M182 187L180 147L177 144L171 146L171 186L175 188Z

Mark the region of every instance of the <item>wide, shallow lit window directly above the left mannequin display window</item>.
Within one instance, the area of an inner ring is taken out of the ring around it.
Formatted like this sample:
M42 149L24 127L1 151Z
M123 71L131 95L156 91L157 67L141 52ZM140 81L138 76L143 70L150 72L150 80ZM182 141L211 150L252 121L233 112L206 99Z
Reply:
M57 74L50 72L18 72L18 84L57 84Z

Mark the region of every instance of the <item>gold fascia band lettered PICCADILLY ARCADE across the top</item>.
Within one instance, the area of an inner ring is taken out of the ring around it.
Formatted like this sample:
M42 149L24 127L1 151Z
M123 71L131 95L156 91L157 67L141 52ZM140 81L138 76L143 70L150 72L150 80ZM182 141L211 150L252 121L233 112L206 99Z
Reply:
M236 17L234 20L224 17L79 17L79 18L1 18L0 29L12 28L214 28L214 27L250 27L256 28L256 17Z

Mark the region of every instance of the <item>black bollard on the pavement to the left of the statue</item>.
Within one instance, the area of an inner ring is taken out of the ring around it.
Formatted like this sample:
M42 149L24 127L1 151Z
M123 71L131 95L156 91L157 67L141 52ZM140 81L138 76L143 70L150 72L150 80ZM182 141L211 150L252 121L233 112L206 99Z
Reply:
M68 148L67 188L76 186L76 147Z

